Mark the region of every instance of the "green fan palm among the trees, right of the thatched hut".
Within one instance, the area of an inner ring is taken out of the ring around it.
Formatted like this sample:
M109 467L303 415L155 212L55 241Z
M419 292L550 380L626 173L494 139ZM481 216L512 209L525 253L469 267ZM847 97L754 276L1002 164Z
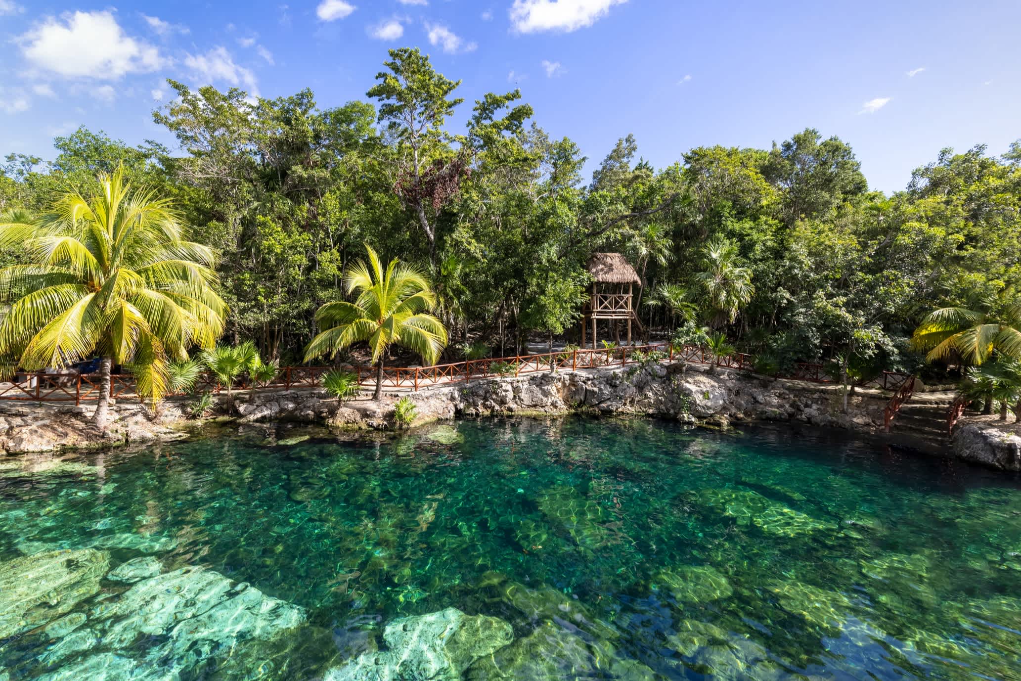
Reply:
M751 271L742 265L737 245L722 237L702 248L695 273L694 294L702 305L706 321L717 328L737 321L737 312L755 293Z

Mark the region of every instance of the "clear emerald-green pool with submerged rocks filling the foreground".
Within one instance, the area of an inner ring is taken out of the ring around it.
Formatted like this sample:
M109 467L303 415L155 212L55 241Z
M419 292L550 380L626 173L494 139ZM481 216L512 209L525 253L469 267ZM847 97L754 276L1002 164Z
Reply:
M278 437L0 459L0 680L1021 679L1000 474L652 421Z

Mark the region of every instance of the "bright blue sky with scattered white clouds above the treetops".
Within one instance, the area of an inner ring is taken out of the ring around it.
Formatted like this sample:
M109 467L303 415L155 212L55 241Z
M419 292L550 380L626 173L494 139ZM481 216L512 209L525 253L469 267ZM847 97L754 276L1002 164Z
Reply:
M166 78L363 99L386 50L410 45L464 81L452 126L520 87L589 171L628 133L663 167L811 126L889 192L942 147L1021 138L1018 27L1017 0L0 0L0 153L52 157L80 125L172 143L151 120Z

